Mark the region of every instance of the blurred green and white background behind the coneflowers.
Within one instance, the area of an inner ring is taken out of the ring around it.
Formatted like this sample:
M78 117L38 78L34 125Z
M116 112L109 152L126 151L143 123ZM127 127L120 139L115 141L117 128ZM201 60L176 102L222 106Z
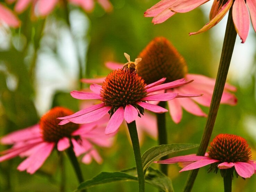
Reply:
M61 105L78 111L79 101L69 91L80 87L79 62L83 77L104 77L110 70L106 61L125 63L123 53L134 60L157 36L166 37L184 56L190 73L216 77L227 18L213 29L189 36L208 22L212 5L205 5L186 14L176 14L162 24L153 25L145 18L146 9L158 0L110 0L112 12L106 13L97 3L86 13L68 5L67 13L57 6L45 18L30 19L30 9L19 15L20 28L0 25L0 136L36 124L41 115L53 106ZM1 1L5 4L4 1ZM13 5L8 5L13 8ZM237 37L228 82L238 88L236 106L221 105L212 138L219 133L237 134L247 139L256 159L256 35L252 27L244 44ZM87 88L88 85L83 85ZM208 108L203 107L207 113ZM166 114L169 143L200 143L206 118L184 111L182 121L175 124ZM85 180L100 172L114 172L135 166L133 150L123 126L110 149L99 149L102 164L81 164ZM156 146L145 136L141 152ZM1 150L8 146L0 146ZM195 153L197 149L174 155ZM54 151L35 174L16 170L22 161L17 157L0 163L0 191L73 191L78 186L76 175L66 154ZM157 167L157 165L153 165ZM200 169L192 191L223 191L220 173ZM169 166L175 191L182 191L189 172L179 173L177 164ZM243 180L234 178L234 192L256 191L256 176ZM88 191L136 191L136 182L114 182L92 187ZM146 191L157 191L146 184Z

